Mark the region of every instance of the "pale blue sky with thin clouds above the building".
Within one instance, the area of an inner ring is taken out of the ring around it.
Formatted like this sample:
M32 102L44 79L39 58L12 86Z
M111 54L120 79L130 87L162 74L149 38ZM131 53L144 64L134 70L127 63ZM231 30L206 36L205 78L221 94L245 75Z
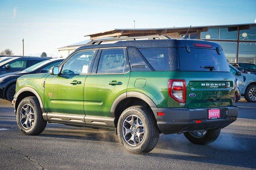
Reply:
M0 0L0 51L60 57L57 48L114 28L254 23L256 0Z

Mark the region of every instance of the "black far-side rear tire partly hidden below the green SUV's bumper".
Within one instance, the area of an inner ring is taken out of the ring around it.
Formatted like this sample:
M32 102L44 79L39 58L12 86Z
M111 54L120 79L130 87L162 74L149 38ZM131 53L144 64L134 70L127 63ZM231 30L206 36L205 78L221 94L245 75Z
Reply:
M215 141L220 135L220 129L206 130L206 133L200 136L196 135L195 132L185 132L184 136L188 141L197 145L207 145Z

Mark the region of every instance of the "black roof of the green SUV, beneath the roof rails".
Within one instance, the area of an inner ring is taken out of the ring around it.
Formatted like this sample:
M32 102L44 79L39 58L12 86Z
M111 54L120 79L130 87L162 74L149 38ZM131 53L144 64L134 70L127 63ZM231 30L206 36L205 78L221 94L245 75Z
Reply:
M210 41L194 40L194 39L153 39L153 40L136 40L136 41L118 41L116 43L100 44L100 45L84 45L76 49L76 51L79 51L82 49L97 49L97 48L110 48L110 47L159 48L159 47L185 47L185 45L189 45L192 48L194 47L195 43L212 45L212 49L216 49L216 47L219 47L220 50L222 50L222 48L218 43L214 43ZM204 48L204 47L199 47L199 48Z

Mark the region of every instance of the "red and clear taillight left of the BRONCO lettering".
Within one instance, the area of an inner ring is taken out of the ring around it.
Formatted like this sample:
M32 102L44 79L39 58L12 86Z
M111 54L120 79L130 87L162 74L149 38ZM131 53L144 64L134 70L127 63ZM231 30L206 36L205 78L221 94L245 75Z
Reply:
M168 94L179 103L186 101L186 81L170 79L168 82Z

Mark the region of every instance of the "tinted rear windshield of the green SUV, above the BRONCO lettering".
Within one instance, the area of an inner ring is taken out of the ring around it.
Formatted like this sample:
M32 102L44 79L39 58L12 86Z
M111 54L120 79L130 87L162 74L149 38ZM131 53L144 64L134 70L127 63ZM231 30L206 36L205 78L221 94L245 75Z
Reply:
M218 55L215 49L179 48L180 70L182 71L210 71L209 66L214 66L212 71L230 72L228 62L222 50ZM206 68L208 66L208 68Z

